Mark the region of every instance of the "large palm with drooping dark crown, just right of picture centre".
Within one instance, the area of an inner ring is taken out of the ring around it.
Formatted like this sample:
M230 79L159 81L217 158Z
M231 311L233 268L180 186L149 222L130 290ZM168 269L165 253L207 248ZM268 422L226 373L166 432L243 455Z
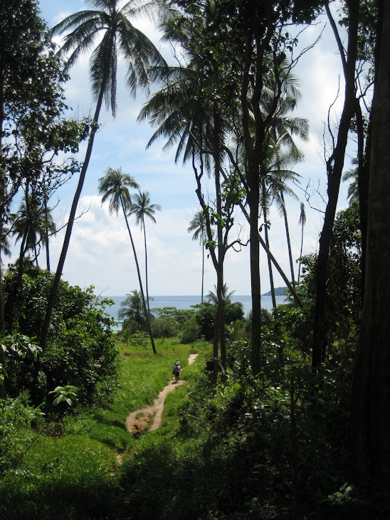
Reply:
M207 16L205 14L205 16ZM157 126L157 130L149 140L148 147L159 137L167 137L167 144L164 149L176 145L175 160L183 157L183 161L191 160L196 177L196 194L199 198L201 208L204 211L206 222L206 232L211 261L216 270L219 305L215 321L214 336L214 358L218 358L218 343L221 346L221 360L226 368L226 346L223 312L223 261L228 249L228 232L233 225L231 219L232 210L223 208L221 197L221 164L223 157L223 145L227 142L226 110L221 105L218 97L208 95L211 88L214 89L218 81L216 73L216 62L213 58L204 60L204 56L193 54L193 42L190 41L191 21L185 17L181 19L181 24L166 25L166 38L173 43L178 43L186 52L188 66L161 68L156 74L162 78L164 87L159 92L152 95L139 114L139 120L149 118L152 125ZM204 22L201 22L203 24ZM204 23L204 30L207 24ZM177 31L180 28L180 31ZM214 182L216 202L215 208L211 208L209 202L204 199L201 183L204 172L211 172L214 167ZM226 210L226 222L228 224L222 228L221 219L223 209ZM211 229L210 214L215 211L220 219L216 219L217 239L214 241ZM224 234L224 236L223 236ZM217 368L217 365L216 365ZM215 371L214 377L216 377Z

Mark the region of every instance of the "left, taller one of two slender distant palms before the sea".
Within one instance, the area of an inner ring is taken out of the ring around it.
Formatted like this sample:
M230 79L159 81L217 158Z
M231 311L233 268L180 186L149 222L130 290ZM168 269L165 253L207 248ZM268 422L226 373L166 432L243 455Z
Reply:
M130 197L130 191L128 187L139 188L139 185L131 175L127 175L122 172L122 168L114 170L113 168L107 168L105 177L99 179L99 193L103 195L102 204L110 199L108 206L109 212L118 214L120 207L122 208L123 216L125 217L127 231L129 232L130 241L132 243L132 251L134 254L135 265L137 266L137 274L139 281L139 291L141 292L142 302L144 305L144 313L147 320L147 328L152 343L153 353L156 354L156 347L154 346L154 339L152 335L152 328L150 326L149 313L147 312L147 306L144 298L144 289L142 288L141 273L139 271L139 264L137 259L137 252L135 251L134 241L132 239L132 232L130 230L129 221L127 220L127 211L129 211L132 199Z

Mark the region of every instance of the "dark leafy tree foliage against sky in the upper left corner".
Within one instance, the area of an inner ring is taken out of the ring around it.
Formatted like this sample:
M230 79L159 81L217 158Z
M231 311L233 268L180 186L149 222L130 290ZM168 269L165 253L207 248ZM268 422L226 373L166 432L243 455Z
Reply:
M12 201L22 186L47 199L58 184L78 172L73 157L58 161L58 152L78 152L89 121L68 121L63 84L68 76L55 44L38 16L36 1L16 0L1 6L3 49L0 63L1 210L10 219Z

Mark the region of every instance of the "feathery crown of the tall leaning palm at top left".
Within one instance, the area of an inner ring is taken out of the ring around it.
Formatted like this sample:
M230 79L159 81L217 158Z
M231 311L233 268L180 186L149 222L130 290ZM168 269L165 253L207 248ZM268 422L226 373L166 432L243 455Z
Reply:
M60 48L60 54L68 56L66 70L93 49L90 56L93 98L98 103L102 94L107 109L115 116L118 56L126 63L126 86L133 97L137 88L149 89L149 67L164 64L154 43L130 20L147 17L161 21L167 10L157 9L157 3L138 0L130 0L121 8L119 0L86 1L95 9L70 14L51 31L53 36L67 33Z

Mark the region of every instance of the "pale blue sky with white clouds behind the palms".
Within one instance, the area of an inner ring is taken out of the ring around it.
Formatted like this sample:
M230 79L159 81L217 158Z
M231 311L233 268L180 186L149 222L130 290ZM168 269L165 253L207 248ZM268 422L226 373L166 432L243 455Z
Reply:
M80 0L41 0L38 2L41 16L49 27L58 23L69 14L90 6ZM152 38L164 56L169 48L159 42L159 33L144 21L135 23L147 36ZM323 24L310 26L305 30L300 41L302 45L312 43L320 35ZM153 128L149 123L137 123L137 115L145 101L142 93L133 100L125 90L120 65L117 85L117 117L112 120L110 113L102 111L101 127L95 137L93 155L79 203L81 217L75 222L70 239L68 256L63 269L63 279L72 285L87 288L95 287L95 293L102 296L122 296L138 289L137 271L132 255L130 240L122 215L109 214L108 205L102 206L97 191L98 180L105 175L107 168L121 167L122 171L132 175L142 192L149 192L151 202L162 209L155 214L156 224L147 221L147 251L149 295L200 295L201 294L201 244L192 240L188 232L189 222L194 213L199 211L196 197L196 182L190 165L174 163L174 151L164 152L164 141L154 142L146 150ZM300 115L310 120L310 140L300 143L305 154L302 163L295 167L301 175L301 188L295 187L295 193L305 202L307 222L304 229L303 254L317 252L318 238L322 229L322 215L326 201L326 169L324 160L323 128L327 120L328 108L337 98L340 78L340 58L330 32L325 26L322 39L310 52L306 53L295 74L300 78L302 98L293 115ZM341 83L340 83L341 82ZM71 116L82 118L93 113L94 103L90 91L88 57L80 60L70 70L70 80L65 86L68 105L72 108ZM340 100L334 103L332 118L337 119L340 112ZM83 159L85 145L80 147L79 159ZM352 155L352 152L350 152ZM346 160L346 169L351 167L350 157ZM58 222L66 222L78 178L65 184L54 199L55 217ZM304 187L309 186L312 196L310 204L305 201ZM342 183L339 209L347 205L347 184ZM290 225L290 239L294 260L300 256L301 228L300 202L286 200ZM312 206L313 208L311 208ZM270 214L270 249L280 262L285 273L289 272L288 249L285 239L283 219L276 211ZM143 234L134 219L130 219L132 234L139 257L139 264L144 272ZM233 234L232 239L237 235ZM244 227L241 237L245 241L248 229ZM56 269L58 256L63 242L63 233L58 233L51 240L51 269ZM225 282L229 291L236 295L251 293L249 269L249 250L229 251L225 264ZM45 266L42 253L38 258ZM295 262L295 277L298 264ZM270 289L268 266L265 254L260 259L261 292ZM285 286L283 279L275 271L275 286ZM216 274L211 259L206 259L204 292L214 291Z

